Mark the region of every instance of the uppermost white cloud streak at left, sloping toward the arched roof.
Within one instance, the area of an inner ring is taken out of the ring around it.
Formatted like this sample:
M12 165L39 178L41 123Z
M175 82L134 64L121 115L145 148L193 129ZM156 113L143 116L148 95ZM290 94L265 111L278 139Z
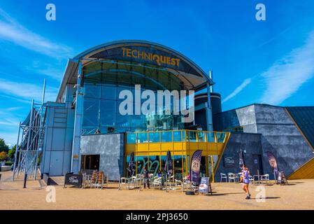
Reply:
M10 18L4 10L0 8L0 39L13 42L29 50L40 52L55 58L67 58L71 49L57 43L52 43L47 38L35 34L20 23Z

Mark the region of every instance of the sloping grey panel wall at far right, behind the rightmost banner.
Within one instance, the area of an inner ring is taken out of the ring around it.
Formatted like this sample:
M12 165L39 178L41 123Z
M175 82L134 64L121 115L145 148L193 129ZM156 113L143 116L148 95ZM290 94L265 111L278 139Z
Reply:
M295 169L313 158L313 151L294 125L285 108L255 105L257 131L262 134L263 151L271 151L278 160L279 169L288 176ZM264 172L271 174L271 167L263 154Z

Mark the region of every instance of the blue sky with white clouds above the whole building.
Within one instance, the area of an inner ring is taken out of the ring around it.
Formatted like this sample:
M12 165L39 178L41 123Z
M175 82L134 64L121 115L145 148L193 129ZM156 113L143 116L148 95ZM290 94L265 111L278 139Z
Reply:
M45 19L55 3L57 20ZM257 3L266 21L255 20ZM41 99L55 100L67 59L94 45L142 39L213 70L223 110L252 103L313 106L314 1L9 1L0 3L0 138Z

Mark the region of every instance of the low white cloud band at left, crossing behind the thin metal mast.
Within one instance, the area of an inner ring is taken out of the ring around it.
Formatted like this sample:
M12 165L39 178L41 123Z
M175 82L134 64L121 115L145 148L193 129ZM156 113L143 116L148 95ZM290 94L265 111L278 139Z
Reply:
M55 87L46 87L45 101L55 101L57 90ZM30 83L16 83L0 78L0 92L10 97L15 96L28 100L35 99L36 102L41 102L43 87Z

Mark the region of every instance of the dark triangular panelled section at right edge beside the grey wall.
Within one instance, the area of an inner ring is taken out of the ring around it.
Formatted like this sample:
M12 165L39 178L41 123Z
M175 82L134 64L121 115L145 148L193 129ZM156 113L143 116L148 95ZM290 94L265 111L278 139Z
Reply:
M288 106L286 109L314 148L314 106Z

